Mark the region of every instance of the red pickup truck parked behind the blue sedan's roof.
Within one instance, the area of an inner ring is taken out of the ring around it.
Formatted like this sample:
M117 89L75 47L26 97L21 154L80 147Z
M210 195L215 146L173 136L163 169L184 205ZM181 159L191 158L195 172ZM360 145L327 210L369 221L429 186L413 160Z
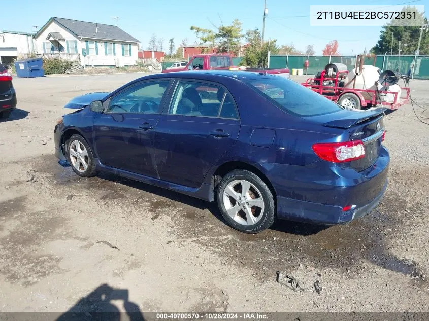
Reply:
M233 65L231 56L228 54L202 54L193 56L186 67L165 69L162 73L182 72L185 70L246 70L248 72L265 72L267 74L278 75L289 78L288 68L284 69L264 69L264 68L246 68Z

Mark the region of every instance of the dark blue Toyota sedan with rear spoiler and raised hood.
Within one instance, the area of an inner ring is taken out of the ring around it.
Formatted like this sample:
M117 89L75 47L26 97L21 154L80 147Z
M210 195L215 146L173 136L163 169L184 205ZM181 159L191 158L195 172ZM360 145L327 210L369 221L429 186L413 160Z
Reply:
M382 110L343 108L288 79L250 72L142 77L73 99L55 148L98 171L217 201L246 233L276 219L333 225L365 215L387 185Z

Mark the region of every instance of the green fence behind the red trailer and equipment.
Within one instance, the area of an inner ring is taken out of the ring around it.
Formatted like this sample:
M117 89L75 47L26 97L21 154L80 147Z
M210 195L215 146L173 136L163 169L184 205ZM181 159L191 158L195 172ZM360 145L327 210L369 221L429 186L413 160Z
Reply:
M270 57L270 68L304 68L304 62L307 56L280 56L275 55ZM356 64L356 56L309 56L308 75L315 75L320 72L328 63L343 63L348 70L354 68ZM382 70L395 70L401 74L407 74L413 64L414 56L383 56L365 58L365 64L375 65ZM237 65L235 63L235 65ZM429 79L429 57L417 56L415 70L415 79Z

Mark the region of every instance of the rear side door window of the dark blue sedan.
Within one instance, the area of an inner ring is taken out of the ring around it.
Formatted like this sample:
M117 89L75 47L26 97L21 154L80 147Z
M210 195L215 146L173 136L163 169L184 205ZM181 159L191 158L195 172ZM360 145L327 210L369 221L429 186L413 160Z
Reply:
M193 81L178 83L168 113L238 118L233 98L223 87Z

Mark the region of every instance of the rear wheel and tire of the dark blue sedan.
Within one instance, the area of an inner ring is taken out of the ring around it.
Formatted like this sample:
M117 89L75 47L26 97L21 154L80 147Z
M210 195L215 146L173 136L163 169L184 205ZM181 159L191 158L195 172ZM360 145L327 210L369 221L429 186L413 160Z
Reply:
M216 198L225 221L240 232L256 234L275 221L273 193L251 171L236 169L227 173L217 186Z

